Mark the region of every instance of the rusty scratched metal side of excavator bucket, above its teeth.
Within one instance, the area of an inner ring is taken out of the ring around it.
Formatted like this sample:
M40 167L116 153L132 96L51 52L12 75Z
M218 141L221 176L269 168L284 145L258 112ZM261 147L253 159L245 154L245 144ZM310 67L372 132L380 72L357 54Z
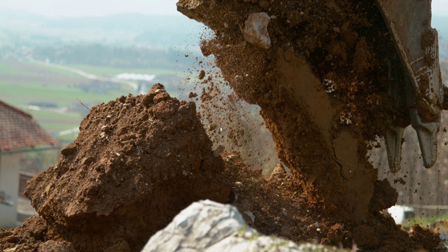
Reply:
M376 0L414 87L408 106L425 122L435 122L442 109L437 31L430 27L430 0Z

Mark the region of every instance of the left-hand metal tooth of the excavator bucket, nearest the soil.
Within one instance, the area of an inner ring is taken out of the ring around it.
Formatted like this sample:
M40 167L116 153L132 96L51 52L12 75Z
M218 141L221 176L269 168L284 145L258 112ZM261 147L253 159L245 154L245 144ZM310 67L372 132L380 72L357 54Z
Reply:
M393 173L401 169L401 144L404 131L402 127L389 127L386 132L387 160L389 169Z

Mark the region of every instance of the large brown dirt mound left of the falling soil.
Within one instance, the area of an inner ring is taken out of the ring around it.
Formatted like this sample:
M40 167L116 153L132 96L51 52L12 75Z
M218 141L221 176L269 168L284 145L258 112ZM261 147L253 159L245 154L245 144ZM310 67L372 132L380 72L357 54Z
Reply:
M139 251L190 203L229 201L224 162L211 145L195 104L170 97L160 84L147 95L95 106L57 163L29 181L25 195L43 220L31 218L22 230L31 229L31 243ZM38 226L44 228L34 234ZM17 245L13 233L3 233L3 248Z

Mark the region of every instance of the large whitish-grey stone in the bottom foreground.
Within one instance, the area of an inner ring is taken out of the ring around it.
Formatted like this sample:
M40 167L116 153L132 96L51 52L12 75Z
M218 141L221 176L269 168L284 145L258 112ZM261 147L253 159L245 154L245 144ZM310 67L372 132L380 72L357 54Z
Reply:
M210 200L194 202L157 232L142 252L345 251L260 235L244 223L238 209Z

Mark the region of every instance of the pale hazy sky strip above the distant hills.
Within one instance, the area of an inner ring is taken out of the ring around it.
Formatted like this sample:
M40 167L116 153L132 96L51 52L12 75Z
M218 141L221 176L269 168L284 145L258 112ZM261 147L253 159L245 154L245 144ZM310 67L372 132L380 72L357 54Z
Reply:
M413 0L414 1L414 0ZM180 15L177 0L0 0L0 9L25 10L49 16L147 13ZM448 0L433 0L434 15L448 15Z

